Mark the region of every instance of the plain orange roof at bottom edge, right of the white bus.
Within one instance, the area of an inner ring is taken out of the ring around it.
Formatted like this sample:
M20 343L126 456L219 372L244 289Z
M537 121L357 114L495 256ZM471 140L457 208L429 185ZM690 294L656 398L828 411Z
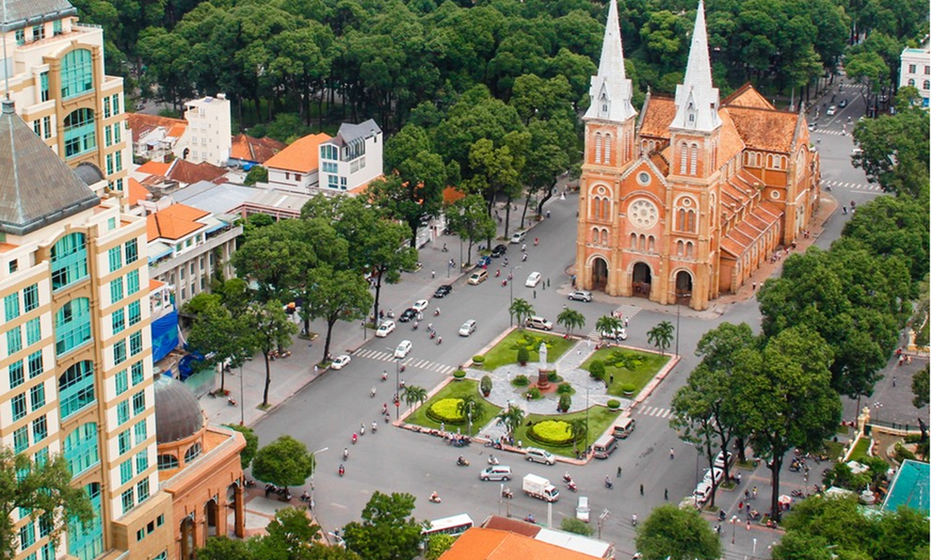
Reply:
M509 531L472 527L452 543L440 560L591 560L590 554Z

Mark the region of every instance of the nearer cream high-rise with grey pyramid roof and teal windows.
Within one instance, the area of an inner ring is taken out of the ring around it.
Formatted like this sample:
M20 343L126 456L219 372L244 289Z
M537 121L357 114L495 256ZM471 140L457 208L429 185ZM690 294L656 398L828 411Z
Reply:
M16 558L173 557L156 471L146 221L106 194L98 167L48 150L11 100L0 169L0 444L34 460L63 454L94 510L58 550L48 527L14 512Z

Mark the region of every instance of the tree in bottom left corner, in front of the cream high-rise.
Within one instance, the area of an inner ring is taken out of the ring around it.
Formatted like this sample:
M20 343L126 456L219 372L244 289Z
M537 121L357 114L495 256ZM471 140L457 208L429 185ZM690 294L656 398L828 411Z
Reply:
M53 455L33 462L28 455L0 449L0 493L3 518L0 519L0 550L12 558L20 546L20 531L13 523L13 513L32 512L40 525L50 527L51 541L58 545L65 523L71 529L96 522L88 493L71 486L72 474L63 455ZM73 525L74 524L74 525Z

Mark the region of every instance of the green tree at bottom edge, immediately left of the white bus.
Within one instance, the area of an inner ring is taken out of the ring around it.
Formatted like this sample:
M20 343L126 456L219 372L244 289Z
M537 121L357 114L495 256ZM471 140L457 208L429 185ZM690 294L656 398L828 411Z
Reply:
M419 550L425 524L413 518L414 497L375 491L362 510L362 521L344 528L346 548L366 560L412 558Z

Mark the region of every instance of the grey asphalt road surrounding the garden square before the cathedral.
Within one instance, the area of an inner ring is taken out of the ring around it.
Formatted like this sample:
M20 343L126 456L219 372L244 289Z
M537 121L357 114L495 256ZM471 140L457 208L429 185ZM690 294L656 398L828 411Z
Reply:
M818 149L821 151L822 176L825 184L833 185L832 190L826 194L837 198L841 201L840 204L844 204L844 201L849 204L849 200L862 203L880 193L867 183L861 170L850 165L853 141L849 134L844 136L841 132L847 114L856 122L857 117L864 112L864 107L862 99L853 95L849 88L845 89L844 95L851 100L851 104L834 118L821 119L813 137L821 136ZM610 460L593 460L585 467L567 467L561 463L547 467L526 463L520 456L499 455L502 463L510 465L514 471L514 480L507 483L514 490L513 500L502 502L498 499L499 483L479 482L479 471L484 468L487 460L489 449L486 447L448 447L439 438L399 430L386 425L384 421L379 421L377 433L371 433L371 422L381 418L382 405L391 404L396 363L390 354L400 340L409 339L413 343L412 353L404 361L406 371L400 374L400 377L406 380L408 385L416 384L429 390L452 371L453 367L466 362L471 355L478 353L508 327L510 318L507 308L512 297L529 300L537 314L554 323L563 305L570 305L586 315L588 328L594 325L598 317L617 308L616 302L607 300L595 300L590 303L568 301L557 291L560 287L563 290L569 287L570 279L565 271L574 259L576 207L577 198L573 195L564 201L554 198L547 204L546 208L552 212L552 219L544 220L529 233L527 261L520 260L519 246L508 246L507 257L514 273L514 280L508 286L504 287L501 284L501 280L509 272L509 269L504 268L501 259L492 263L489 267L490 279L478 287L466 285L467 275L455 280L450 296L443 300L430 300L425 319L417 331L412 330L410 323L398 323L396 332L385 339L375 339L371 337L370 332L370 339L354 355L348 367L338 375L324 376L308 385L255 426L257 433L266 442L280 433L290 433L304 441L311 450L326 449L317 453L318 470L315 481L316 513L324 527L331 530L358 519L359 513L376 489L383 492L412 493L417 497L414 515L418 519L469 513L476 523L480 523L491 513L509 511L510 514L519 517L533 513L539 522L543 522L547 518L546 503L519 492L520 478L526 473L546 475L554 484L563 488L561 499L552 507L553 524L558 527L563 517L573 516L577 498L575 494L565 490L560 482L562 473L568 471L577 481L579 495L588 496L590 500L593 524L602 510L611 511L602 527L601 537L604 540L613 540L619 552L618 557L624 557L624 553L633 552L634 531L629 522L632 513L637 513L641 519L645 519L655 506L665 501L664 490L668 490L668 500L672 502L678 502L691 493L696 477L700 476L699 472L706 467L707 458L698 458L696 470L695 450L683 444L668 427L669 402L695 367L695 344L704 332L724 320L733 323L747 322L755 330L759 329L760 313L755 300L731 306L727 313L718 319L699 318L692 316L689 310L683 310L678 319L681 324L679 346L682 362L657 387L643 406L635 411L634 417L638 421L636 432L621 442ZM817 245L830 246L830 242L840 236L843 222L847 219L849 215L835 213L828 220L825 233L817 240ZM534 237L540 239L537 247L533 246ZM385 287L383 308L400 313L413 300L432 295L435 287L446 282L447 273L454 272L437 263L442 263L451 256L459 259L459 250L455 245L457 244L452 241L449 243L450 253L440 254L437 249L426 249L434 252L430 257L432 260L429 261L425 258L425 252L422 252L425 269L417 274L406 275L405 281L399 285ZM498 268L501 268L502 275L495 278L494 271ZM430 270L436 272L436 278L432 277ZM523 286L527 275L533 271L542 273L544 281L549 282L548 288L544 288L541 283L536 288L535 295L532 288ZM455 279L454 275L451 279ZM624 302L638 306L638 300L626 299ZM442 313L433 316L433 311L438 306ZM647 346L646 331L649 328L659 321L669 320L674 324L677 321L675 308L652 311L649 307L644 305L644 309L628 313L634 314L628 328L628 344ZM629 311L631 310L628 309ZM456 332L466 319L476 319L478 331L469 338L462 338L457 336ZM428 322L432 322L443 337L441 345L429 340L425 329ZM340 333L353 327L358 328L358 325L340 325L336 328L334 349L341 348ZM333 350L333 353L338 353L338 350ZM390 374L387 382L380 380L383 370ZM883 390L883 383L886 382L881 383ZM899 387L904 384L901 381L898 383ZM372 386L377 390L374 398L370 396ZM896 401L902 398L896 397L895 394L889 396L890 400ZM852 409L854 405L847 403L846 407ZM905 408L903 406L903 409ZM845 412L844 418L850 418L849 410ZM350 436L358 431L360 424L366 425L366 434L353 446ZM478 430L479 427L476 427L476 431ZM344 447L349 447L350 457L344 463L346 473L341 478L337 469L343 462ZM669 459L670 447L676 451L674 460ZM464 455L472 461L472 465L457 467L454 462L459 455ZM619 478L616 477L618 467L623 469ZM606 475L615 480L614 490L604 487L603 479ZM768 478L769 473L765 469L744 475L745 487L758 486L762 502L769 496L769 487L766 486ZM814 482L816 481L813 480ZM791 484L798 485L798 482ZM643 485L642 496L640 485ZM784 487L783 491L786 491L786 488ZM429 493L434 490L442 497L441 504L427 501ZM727 509L729 515L734 512L737 500L743 498L742 490L743 488L738 492L719 495L718 503ZM764 506L754 507L763 509ZM734 530L734 527L728 528ZM760 546L756 555L768 556L763 549L775 539L772 533L758 534L742 527L734 532L734 545L726 538L722 540L727 549L727 557L738 558L751 553L751 547L757 545L758 538Z

